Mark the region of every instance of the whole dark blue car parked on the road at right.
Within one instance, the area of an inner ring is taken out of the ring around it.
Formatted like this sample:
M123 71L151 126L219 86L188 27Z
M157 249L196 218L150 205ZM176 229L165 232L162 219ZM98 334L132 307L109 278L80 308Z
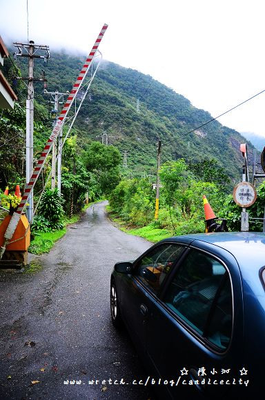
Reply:
M264 288L264 233L171 237L115 264L112 323L128 328L159 398L261 399Z

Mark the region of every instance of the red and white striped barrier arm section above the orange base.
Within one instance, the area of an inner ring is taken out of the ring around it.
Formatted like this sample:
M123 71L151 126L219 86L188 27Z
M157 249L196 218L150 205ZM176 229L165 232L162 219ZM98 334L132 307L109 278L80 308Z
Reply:
M102 37L104 37L104 33L106 32L107 28L108 28L108 25L104 24L104 26L101 29L101 32L99 33L99 36L97 37L97 40L95 41L94 46L92 47L92 50L90 51L90 53L88 55L88 58L86 59L86 61L84 63L83 68L81 69L81 71L79 73L79 76L77 77L77 81L75 82L74 86L72 87L72 90L68 96L68 99L66 100L66 103L63 106L63 110L61 110L61 114L59 115L59 118L57 120L55 128L53 128L52 133L50 134L50 137L46 143L46 146L43 149L43 152L41 153L41 157L39 158L39 161L37 162L37 166L35 167L35 169L32 173L32 176L30 177L30 181L26 184L24 194L21 199L21 203L19 204L19 207L17 208L18 214L21 214L23 212L23 209L25 208L25 205L28 201L30 192L31 192L32 188L35 186L35 183L36 183L36 181L39 177L39 174L43 168L43 164L45 163L46 158L50 152L50 149L52 148L52 143L53 143L53 141L55 141L55 139L59 135L61 128L63 127L63 122L66 119L66 115L68 114L68 111L70 110L70 107L72 106L72 102L75 100L75 97L77 96L77 92L79 91L79 88L81 87L81 83L84 81L84 78L86 77L88 68L90 67L92 59L95 56L95 52L97 52L99 43L101 42Z

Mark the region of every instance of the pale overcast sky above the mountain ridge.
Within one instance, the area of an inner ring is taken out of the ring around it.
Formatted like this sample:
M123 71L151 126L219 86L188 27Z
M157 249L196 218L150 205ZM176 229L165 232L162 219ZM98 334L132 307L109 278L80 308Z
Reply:
M213 117L265 89L264 0L0 0L4 41L88 54L134 68ZM139 85L141 82L139 81ZM161 99L162 101L162 99ZM265 137L265 92L219 122Z

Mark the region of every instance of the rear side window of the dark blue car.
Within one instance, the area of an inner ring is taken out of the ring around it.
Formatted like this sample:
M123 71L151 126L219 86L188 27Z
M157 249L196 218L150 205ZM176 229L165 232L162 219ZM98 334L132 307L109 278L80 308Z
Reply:
M190 250L164 301L185 323L225 349L232 330L232 293L226 268L213 257Z

